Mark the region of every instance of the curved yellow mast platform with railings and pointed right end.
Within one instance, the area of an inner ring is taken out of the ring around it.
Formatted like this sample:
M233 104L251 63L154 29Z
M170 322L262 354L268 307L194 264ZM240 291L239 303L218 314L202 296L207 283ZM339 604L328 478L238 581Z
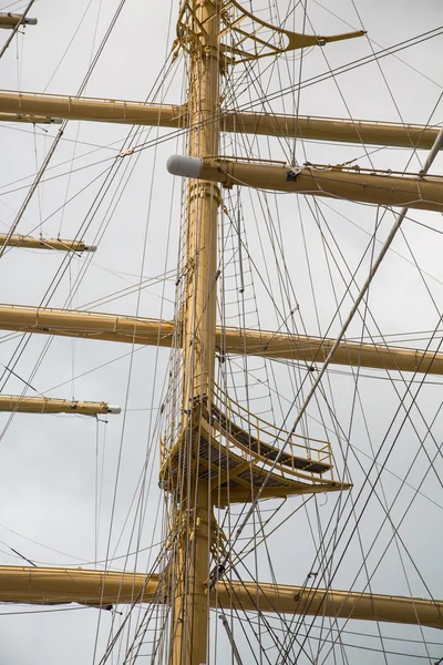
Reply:
M349 490L333 478L329 441L287 432L250 413L214 383L210 403L195 399L175 440L161 442L161 487L174 492L194 468L214 504ZM192 460L189 458L189 451Z

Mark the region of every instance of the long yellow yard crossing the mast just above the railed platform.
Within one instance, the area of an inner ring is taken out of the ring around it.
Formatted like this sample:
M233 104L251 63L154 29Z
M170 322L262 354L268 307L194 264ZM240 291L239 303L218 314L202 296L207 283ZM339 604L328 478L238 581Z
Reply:
M182 346L174 321L133 318L95 311L70 311L37 307L0 306L0 329L97 341L120 341L147 346ZM280 360L321 364L333 339L287 335L271 330L216 328L216 350L224 354L261 356ZM332 364L419 374L443 375L443 354L394 346L342 341Z

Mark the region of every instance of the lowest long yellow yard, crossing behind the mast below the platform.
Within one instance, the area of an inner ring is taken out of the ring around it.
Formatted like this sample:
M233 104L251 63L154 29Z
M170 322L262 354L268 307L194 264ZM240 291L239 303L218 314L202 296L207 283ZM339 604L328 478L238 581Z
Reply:
M53 605L79 603L107 607L164 603L159 575L79 569L0 566L0 602ZM218 582L209 595L213 608L278 612L332 618L357 618L443 628L443 602L404 596L334 591L261 582Z

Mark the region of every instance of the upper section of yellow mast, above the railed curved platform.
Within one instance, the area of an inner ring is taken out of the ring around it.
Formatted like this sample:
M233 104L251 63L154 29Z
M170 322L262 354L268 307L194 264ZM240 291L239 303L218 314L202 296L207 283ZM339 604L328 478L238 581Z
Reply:
M189 31L189 132L192 157L218 154L218 1L193 0ZM184 305L185 407L209 397L214 379L216 329L217 209L219 190L190 180L186 218L187 279Z

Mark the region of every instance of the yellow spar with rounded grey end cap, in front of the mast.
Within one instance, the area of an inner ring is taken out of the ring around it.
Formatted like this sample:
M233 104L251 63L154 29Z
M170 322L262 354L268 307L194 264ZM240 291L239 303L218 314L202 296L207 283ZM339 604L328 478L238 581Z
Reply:
M292 168L284 164L175 155L167 167L174 175L199 177L225 187L240 185L293 194L326 196L385 206L443 212L443 177L389 175L340 166Z

